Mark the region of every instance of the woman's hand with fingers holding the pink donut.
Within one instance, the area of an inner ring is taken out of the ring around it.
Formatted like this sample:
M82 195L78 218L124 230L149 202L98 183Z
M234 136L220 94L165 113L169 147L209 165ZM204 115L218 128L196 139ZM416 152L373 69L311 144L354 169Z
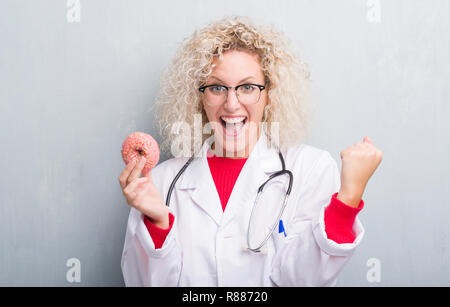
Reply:
M136 160L129 162L119 176L122 193L129 206L146 215L155 226L167 229L169 210L153 182L151 171L142 174L143 177L139 178L145 165L145 158Z

